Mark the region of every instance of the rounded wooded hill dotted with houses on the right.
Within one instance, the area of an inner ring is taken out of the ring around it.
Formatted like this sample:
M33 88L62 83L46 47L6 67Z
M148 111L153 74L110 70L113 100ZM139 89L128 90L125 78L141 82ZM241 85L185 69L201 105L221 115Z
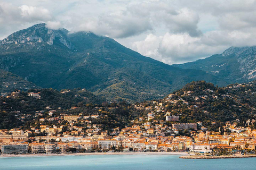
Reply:
M191 82L181 90L173 92L174 99L181 99L180 103L167 102L169 106L166 108L180 115L180 122L201 121L212 130L224 125L226 121L237 121L244 126L256 114L256 103L250 101L255 98L255 94L252 91L246 92L248 88L252 88L251 84L255 86L255 82L252 82L236 84L235 88L233 85L219 88L205 81Z

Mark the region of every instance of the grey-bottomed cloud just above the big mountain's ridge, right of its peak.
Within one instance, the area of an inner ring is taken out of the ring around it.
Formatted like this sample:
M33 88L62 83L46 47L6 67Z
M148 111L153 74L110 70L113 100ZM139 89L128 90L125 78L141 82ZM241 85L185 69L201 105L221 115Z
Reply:
M128 11L101 14L98 18L85 18L82 21L78 25L73 22L77 26L72 31L92 31L111 38L125 38L152 29L149 19L134 16Z

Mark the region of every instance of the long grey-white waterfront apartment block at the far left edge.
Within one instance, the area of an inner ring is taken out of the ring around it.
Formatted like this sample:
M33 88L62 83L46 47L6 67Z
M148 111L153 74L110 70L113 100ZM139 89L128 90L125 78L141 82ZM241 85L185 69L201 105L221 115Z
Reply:
M2 154L27 154L28 145L2 145Z

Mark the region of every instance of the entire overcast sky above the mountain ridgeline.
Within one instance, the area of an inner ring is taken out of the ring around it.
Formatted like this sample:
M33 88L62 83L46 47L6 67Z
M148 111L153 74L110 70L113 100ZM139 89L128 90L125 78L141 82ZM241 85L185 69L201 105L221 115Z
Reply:
M256 45L256 0L1 0L0 39L42 22L114 38L167 64Z

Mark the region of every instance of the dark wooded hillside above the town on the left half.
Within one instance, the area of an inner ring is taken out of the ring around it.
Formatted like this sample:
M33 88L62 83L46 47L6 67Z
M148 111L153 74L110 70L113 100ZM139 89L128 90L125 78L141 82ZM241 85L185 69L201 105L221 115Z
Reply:
M39 92L41 97L28 96L28 92ZM84 116L100 113L100 118L90 118L89 120L94 124L101 124L104 130L124 128L135 116L138 116L132 105L125 102L108 104L103 99L81 88L65 89L62 92L53 89L32 89L28 92L0 98L0 129L20 126L29 128L30 125L38 122L39 118L46 119L42 124L58 124L58 120L47 120L49 111L53 109L56 117L61 114L82 114ZM66 125L65 122L63 125Z

